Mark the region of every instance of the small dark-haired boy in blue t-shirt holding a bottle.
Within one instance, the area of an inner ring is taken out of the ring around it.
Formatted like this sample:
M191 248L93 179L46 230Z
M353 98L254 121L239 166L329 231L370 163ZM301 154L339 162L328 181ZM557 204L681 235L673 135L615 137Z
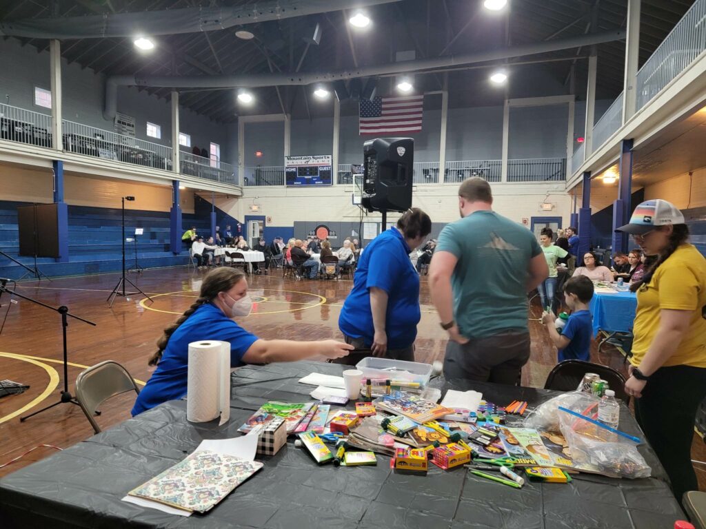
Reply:
M591 312L588 304L593 298L593 281L586 276L575 276L564 284L564 300L571 310L568 322L561 334L555 327L554 312L544 312L542 322L546 324L549 338L558 349L558 361L590 361L591 335L593 334Z

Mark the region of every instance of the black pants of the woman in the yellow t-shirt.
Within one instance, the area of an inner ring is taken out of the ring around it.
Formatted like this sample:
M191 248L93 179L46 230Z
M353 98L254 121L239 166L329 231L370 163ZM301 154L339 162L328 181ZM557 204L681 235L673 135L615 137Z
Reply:
M635 399L635 418L657 453L681 503L684 492L698 490L691 464L691 443L698 406L706 398L706 367L660 367Z

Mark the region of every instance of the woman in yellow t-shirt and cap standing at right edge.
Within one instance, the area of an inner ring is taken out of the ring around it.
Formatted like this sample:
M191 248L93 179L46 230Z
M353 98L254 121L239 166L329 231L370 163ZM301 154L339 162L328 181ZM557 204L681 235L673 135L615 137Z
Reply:
M625 389L681 502L684 492L698 490L690 455L706 397L706 259L688 243L683 214L666 200L642 202L618 231L656 257L630 286L638 309Z

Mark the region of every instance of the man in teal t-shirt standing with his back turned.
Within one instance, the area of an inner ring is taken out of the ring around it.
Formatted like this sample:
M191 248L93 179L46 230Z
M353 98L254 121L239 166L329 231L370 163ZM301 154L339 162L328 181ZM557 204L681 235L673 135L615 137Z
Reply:
M515 384L530 358L527 292L549 269L532 233L493 212L489 183L468 178L458 195L462 218L441 231L429 271L450 336L444 376Z

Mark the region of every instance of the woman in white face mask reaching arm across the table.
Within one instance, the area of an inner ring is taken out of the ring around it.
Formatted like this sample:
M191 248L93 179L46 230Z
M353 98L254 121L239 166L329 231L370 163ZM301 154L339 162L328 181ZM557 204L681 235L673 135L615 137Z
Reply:
M156 365L157 369L140 391L132 414L137 415L186 395L189 343L193 341L230 343L231 367L296 362L317 355L335 359L346 356L353 348L335 340L259 339L232 320L249 315L252 304L243 272L233 268L208 272L199 297L174 324L164 329L164 334L157 340L157 352L149 360L149 365Z

